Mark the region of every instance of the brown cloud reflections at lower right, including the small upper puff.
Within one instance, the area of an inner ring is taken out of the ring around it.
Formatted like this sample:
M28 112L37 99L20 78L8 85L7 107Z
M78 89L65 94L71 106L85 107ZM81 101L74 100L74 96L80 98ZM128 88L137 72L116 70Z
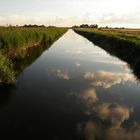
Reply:
M87 107L88 121L78 124L86 140L139 140L140 124L131 122L132 107L118 103L100 102L94 88L78 95ZM94 117L96 118L94 118ZM129 127L126 125L130 122Z

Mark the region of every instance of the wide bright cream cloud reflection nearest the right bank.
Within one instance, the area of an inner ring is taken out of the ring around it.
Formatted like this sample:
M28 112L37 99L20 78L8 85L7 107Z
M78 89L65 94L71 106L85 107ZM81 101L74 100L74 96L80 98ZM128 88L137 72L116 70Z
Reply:
M132 74L99 71L97 73L86 72L84 78L96 87L110 88L113 85L126 81L134 81Z

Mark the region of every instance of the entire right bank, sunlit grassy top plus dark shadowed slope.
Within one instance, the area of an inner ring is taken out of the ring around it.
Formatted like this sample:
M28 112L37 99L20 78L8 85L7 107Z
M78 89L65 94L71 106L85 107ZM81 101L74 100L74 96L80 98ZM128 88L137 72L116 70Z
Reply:
M140 30L74 29L111 55L126 61L140 79Z

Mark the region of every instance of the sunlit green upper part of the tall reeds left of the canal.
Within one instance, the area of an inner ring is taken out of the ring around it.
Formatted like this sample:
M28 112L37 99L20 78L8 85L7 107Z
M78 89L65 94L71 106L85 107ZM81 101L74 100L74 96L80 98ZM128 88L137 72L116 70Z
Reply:
M65 28L0 27L0 48L27 47L36 42L54 40Z

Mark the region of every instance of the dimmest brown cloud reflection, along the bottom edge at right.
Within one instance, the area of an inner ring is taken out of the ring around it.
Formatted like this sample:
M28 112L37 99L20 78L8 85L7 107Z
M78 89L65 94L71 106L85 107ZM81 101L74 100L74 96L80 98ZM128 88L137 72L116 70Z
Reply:
M105 127L99 125L97 122L89 120L81 128L84 132L86 140L139 140L140 138L140 124L134 123L133 126L127 130L120 127Z

